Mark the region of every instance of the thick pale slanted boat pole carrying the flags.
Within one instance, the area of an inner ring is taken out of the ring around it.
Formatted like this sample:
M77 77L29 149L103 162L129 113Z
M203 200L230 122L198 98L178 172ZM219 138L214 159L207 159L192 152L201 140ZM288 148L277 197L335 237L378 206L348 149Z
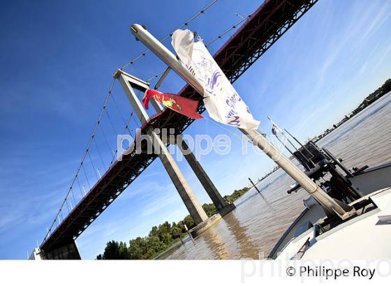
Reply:
M162 61L164 61L172 70L180 75L186 82L188 82L195 91L198 91L201 96L204 94L204 89L202 85L195 79L195 77L190 73L190 71L182 65L181 62L175 57L167 47L165 47L160 41L158 41L154 36L152 36L147 29L142 27L140 24L133 24L131 27L131 32L135 37L144 43L145 46L149 48L156 56L158 56ZM269 156L274 162L281 167L288 175L290 175L297 183L307 190L315 200L317 200L320 205L323 206L326 213L337 215L341 219L346 219L353 214L355 214L355 209L346 204L341 204L335 201L330 195L325 193L325 191L316 185L302 170L300 170L295 164L290 162L286 156L283 156L283 153L276 149L276 147L267 141L265 135L262 135L258 130L244 130L238 128L244 135L249 137L251 142L258 146L267 156Z

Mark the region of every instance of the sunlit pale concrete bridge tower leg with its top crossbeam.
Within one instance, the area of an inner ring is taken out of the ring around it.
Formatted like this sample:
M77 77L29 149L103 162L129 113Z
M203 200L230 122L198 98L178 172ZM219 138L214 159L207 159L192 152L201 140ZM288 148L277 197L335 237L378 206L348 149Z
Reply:
M138 116L138 119L140 119L141 124L146 123L149 119L149 116L147 112L145 112L144 107L140 103L140 100L138 100L137 96L135 95L133 88L140 91L145 91L145 89L149 89L149 84L139 80L136 77L133 77L132 75L124 73L122 70L117 70L117 72L114 74L114 77L119 80L122 88L126 93L126 96L128 97L128 100L131 102L131 105L133 106L133 109ZM191 218L193 218L194 223L198 225L207 220L207 214L205 213L204 209L202 209L200 202L195 197L193 190L191 190L189 183L187 183L181 170L179 170L179 167L170 155L167 146L165 146L161 140L161 137L159 137L152 129L148 130L148 135L152 137L152 144L154 144L154 149L159 150L158 156L161 159L161 163L163 163L163 166L168 172L172 183L174 183L174 186L177 188L180 197L182 197L182 200L188 209Z

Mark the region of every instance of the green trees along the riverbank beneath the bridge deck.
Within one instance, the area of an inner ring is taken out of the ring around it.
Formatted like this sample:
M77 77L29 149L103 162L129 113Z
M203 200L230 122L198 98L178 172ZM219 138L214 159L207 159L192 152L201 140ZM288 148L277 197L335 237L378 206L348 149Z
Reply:
M240 196L246 193L249 188L235 190L231 195L226 195L223 199L231 204ZM213 216L218 213L214 204L203 204L207 216ZM154 259L164 250L168 249L177 241L186 236L186 227L191 229L195 227L193 218L190 215L177 223L168 223L154 226L145 237L138 236L131 239L128 243L123 241L108 241L103 254L96 256L96 259Z

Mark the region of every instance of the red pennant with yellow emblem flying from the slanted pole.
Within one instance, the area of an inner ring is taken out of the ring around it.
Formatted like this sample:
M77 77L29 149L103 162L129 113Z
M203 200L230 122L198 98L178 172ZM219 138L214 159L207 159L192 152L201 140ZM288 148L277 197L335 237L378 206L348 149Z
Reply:
M145 106L145 109L148 109L148 103L151 98L155 98L159 103L170 108L170 110L174 110L180 114L190 117L191 119L204 118L201 114L197 113L198 101L196 100L177 96L172 93L161 93L154 89L147 89L144 97L142 98L142 104Z

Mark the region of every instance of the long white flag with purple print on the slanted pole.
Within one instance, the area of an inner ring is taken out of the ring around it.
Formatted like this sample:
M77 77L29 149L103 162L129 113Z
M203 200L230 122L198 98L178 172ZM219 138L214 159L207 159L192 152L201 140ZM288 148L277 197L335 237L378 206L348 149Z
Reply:
M242 129L257 129L249 107L240 98L202 40L194 43L194 34L178 29L172 34L172 47L204 88L204 103L212 119Z

